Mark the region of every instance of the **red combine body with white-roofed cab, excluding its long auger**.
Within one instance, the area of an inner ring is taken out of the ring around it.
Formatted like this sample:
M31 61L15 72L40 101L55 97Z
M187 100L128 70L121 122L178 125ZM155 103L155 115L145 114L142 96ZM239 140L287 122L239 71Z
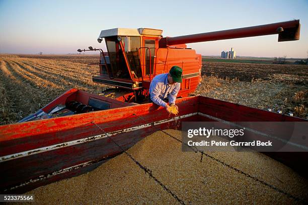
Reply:
M201 80L202 58L185 44L160 46L162 30L124 29L103 30L99 42L106 42L107 53L100 51L99 72L93 73L93 82L125 89L127 93L118 97L125 102L142 104L148 101L151 80L158 74L169 72L174 65L183 68L183 83L178 97L186 97L195 91ZM114 90L112 91L114 92Z

